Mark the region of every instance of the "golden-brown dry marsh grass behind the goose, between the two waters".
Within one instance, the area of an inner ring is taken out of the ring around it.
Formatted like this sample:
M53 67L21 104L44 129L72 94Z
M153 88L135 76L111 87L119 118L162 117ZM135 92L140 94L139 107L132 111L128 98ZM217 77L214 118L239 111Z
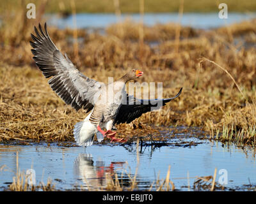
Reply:
M44 9L42 3L38 10ZM29 34L38 21L22 19L18 24L18 17L8 16L0 29L0 141L73 141L74 124L86 116L65 105L36 68ZM184 88L161 112L120 124L118 136L198 126L211 138L255 145L255 20L211 31L144 26L142 37L140 27L127 20L107 27L105 35L77 30L78 52L74 31L49 27L57 47L88 77L108 82L108 77L118 79L128 69L140 68L144 77L138 82L163 82L164 97Z

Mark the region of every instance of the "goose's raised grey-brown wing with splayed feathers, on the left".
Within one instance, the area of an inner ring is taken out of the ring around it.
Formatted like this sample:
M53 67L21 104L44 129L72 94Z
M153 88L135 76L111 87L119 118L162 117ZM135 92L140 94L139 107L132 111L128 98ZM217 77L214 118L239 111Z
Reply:
M84 76L68 59L67 54L65 57L61 54L49 37L46 23L45 32L40 24L38 28L39 31L35 27L36 36L31 34L33 41L30 41L36 65L46 78L52 77L48 83L65 103L76 110L84 107L89 112L99 97L102 84Z

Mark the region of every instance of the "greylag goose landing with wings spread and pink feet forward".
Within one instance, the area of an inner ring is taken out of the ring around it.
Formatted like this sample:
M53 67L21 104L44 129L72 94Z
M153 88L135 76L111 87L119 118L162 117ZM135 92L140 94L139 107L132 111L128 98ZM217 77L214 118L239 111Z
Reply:
M48 83L52 90L60 96L67 105L77 110L84 108L88 116L77 122L74 127L74 138L77 145L90 146L95 133L98 141L104 136L111 138L111 142L124 142L115 138L116 132L112 129L115 124L129 123L140 117L143 113L150 112L152 108L166 105L167 99L137 99L125 92L125 84L129 80L141 77L143 72L132 69L116 82L104 84L83 75L70 61L67 54L62 55L54 45L47 32L39 24L35 27L36 36L31 34L31 52L36 66L46 78L52 77ZM106 128L103 131L102 128Z

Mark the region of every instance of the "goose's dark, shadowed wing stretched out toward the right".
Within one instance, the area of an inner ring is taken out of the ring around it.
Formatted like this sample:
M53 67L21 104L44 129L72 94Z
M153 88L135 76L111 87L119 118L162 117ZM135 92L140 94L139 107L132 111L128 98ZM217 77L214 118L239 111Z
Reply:
M182 88L180 89L179 93L174 96L173 98L166 98L166 99L136 99L133 96L129 96L127 94L127 104L122 104L118 114L116 115L114 124L120 123L130 123L132 120L140 117L143 113L150 112L154 109L159 109L161 106L166 105L166 103L172 101L172 99L177 98L180 96L182 92Z

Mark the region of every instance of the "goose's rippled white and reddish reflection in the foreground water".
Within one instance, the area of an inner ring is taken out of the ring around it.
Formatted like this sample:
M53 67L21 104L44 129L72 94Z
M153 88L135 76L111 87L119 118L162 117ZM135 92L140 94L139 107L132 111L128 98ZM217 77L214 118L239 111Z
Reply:
M111 162L105 166L105 162L98 158L95 165L92 154L79 154L74 161L74 173L85 184L85 189L104 188L107 186L106 174L114 175L115 168L122 168L124 163Z

